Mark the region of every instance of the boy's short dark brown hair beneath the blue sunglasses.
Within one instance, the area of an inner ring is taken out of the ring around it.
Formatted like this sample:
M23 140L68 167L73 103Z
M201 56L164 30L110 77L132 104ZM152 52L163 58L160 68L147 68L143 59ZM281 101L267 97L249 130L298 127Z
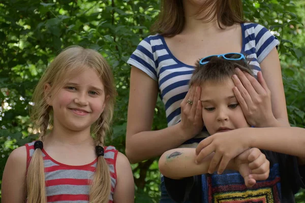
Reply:
M215 56L203 65L200 65L199 61L200 59L196 61L195 71L189 83L190 87L192 85L201 85L205 82L224 82L235 74L236 67L254 76L249 63L245 59L228 60Z

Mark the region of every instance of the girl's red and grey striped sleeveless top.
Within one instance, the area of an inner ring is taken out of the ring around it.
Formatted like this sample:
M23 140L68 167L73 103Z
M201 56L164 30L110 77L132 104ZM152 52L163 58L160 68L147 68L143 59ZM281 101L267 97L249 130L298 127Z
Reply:
M27 166L34 153L34 143L25 144ZM104 147L104 158L108 162L111 177L111 194L109 203L113 202L113 192L116 184L117 150L113 146ZM97 159L92 163L80 166L66 165L52 159L43 149L45 166L47 202L53 203L87 203L89 188L96 171Z

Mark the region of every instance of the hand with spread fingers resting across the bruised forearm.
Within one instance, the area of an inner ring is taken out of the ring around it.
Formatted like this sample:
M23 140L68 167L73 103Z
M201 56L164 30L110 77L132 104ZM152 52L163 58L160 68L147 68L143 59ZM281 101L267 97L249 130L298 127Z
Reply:
M215 172L219 164L218 174L222 174L231 159L251 147L250 136L245 129L247 128L216 133L201 141L196 148L196 162L200 163L207 155L215 152L208 173Z

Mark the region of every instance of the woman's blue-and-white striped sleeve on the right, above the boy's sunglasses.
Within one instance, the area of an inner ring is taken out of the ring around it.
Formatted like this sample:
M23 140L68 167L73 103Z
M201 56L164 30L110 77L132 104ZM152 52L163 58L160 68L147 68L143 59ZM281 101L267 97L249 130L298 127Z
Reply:
M257 24L255 27L255 50L259 63L279 44L279 40L266 27Z

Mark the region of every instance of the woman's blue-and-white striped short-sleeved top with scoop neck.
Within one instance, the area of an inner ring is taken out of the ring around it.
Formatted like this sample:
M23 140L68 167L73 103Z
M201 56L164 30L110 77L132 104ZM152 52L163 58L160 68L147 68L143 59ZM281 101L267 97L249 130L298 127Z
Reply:
M241 53L251 58L254 74L260 71L260 62L279 45L279 41L262 25L242 23ZM148 36L140 42L133 52L129 64L145 72L158 81L160 96L165 105L168 126L178 123L181 119L180 104L189 90L189 81L194 66L186 65L177 60L168 49L161 35ZM195 147L204 137L208 136L206 128L195 138L181 147Z

